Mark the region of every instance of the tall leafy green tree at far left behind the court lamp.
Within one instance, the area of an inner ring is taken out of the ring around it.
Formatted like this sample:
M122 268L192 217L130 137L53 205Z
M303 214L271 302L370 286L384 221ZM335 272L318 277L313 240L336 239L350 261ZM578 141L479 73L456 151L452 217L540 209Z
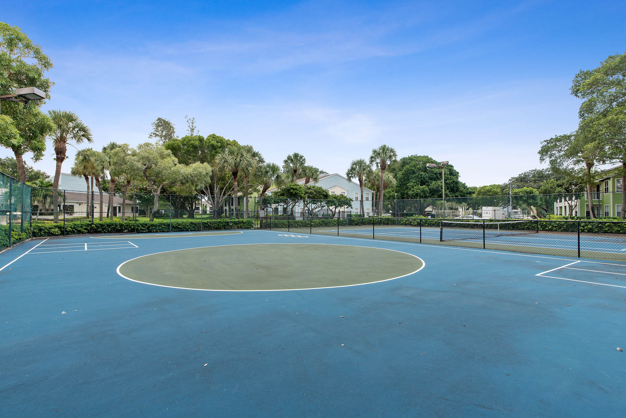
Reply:
M49 96L53 83L44 77L44 73L51 68L50 59L38 44L34 44L17 26L0 22L0 94L14 94L17 88L36 87ZM13 120L12 125L19 133L19 140L14 138L14 141L0 135L0 145L13 150L18 161L19 179L24 182L23 155L32 152L34 161L41 160L46 150L45 137L53 130L51 121L39 110L41 105L43 101L39 100L29 106L13 101L0 104L3 116ZM3 125L1 120L0 125Z

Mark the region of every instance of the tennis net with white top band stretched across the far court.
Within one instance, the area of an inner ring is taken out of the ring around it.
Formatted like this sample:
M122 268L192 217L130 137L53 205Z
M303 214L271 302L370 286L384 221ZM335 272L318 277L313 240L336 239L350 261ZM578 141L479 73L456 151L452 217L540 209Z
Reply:
M441 221L440 240L482 240L492 237L526 235L538 232L538 223L532 221L462 222Z

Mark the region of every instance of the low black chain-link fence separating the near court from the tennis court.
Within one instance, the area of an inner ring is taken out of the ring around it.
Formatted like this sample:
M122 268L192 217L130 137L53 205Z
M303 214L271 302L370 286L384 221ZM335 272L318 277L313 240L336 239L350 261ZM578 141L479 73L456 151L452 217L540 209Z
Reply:
M626 222L262 217L259 227L289 233L626 260Z

